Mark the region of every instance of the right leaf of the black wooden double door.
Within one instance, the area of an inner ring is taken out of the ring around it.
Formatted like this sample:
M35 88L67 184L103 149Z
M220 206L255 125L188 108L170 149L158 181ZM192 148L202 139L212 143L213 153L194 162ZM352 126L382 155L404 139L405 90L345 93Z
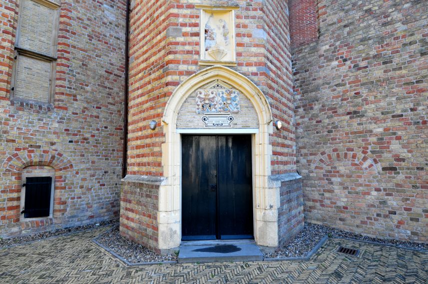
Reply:
M218 137L218 216L220 239L253 238L251 139Z

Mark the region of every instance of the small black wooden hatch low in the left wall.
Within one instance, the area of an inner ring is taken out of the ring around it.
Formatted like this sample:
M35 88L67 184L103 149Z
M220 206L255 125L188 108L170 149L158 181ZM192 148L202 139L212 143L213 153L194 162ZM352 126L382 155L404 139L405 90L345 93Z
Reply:
M27 177L24 186L24 218L49 216L52 178Z

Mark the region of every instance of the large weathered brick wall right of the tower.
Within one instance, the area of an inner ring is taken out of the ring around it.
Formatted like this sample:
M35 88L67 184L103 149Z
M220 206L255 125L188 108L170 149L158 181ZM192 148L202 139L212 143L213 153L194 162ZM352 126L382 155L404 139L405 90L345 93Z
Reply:
M305 218L427 242L426 2L318 4L320 38L293 50Z

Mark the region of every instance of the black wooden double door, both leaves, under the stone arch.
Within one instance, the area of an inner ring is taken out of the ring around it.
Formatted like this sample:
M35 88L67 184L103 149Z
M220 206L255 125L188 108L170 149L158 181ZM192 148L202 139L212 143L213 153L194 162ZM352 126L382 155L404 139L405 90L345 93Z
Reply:
M250 135L182 136L182 239L253 238Z

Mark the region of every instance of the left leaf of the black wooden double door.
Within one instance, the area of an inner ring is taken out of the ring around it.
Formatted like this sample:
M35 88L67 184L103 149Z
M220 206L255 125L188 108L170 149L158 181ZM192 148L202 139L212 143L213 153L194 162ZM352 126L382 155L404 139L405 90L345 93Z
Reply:
M216 239L217 142L215 136L182 138L183 240Z

